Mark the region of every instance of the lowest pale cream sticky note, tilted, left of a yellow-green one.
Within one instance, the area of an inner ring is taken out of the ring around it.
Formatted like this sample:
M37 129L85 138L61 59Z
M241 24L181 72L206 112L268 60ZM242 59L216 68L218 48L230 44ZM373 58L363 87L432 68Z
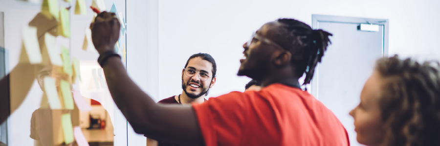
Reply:
M58 98L57 88L55 86L55 79L52 77L44 77L44 91L49 101L49 107L52 110L61 109L60 99Z

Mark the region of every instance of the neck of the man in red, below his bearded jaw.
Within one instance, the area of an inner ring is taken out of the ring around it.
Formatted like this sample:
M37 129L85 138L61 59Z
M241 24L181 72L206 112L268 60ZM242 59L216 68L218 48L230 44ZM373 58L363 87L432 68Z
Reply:
M267 77L261 80L261 86L266 87L270 84L280 83L291 87L301 87L298 82L298 77L294 76L289 68L281 69L277 72L269 73Z

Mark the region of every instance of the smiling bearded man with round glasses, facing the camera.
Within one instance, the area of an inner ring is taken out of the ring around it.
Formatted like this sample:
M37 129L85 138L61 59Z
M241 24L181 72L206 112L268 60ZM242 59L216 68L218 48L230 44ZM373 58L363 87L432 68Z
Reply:
M209 89L216 83L216 72L216 61L211 55L205 53L191 55L182 70L182 93L162 99L158 103L183 105L205 102ZM147 146L180 145L147 138Z

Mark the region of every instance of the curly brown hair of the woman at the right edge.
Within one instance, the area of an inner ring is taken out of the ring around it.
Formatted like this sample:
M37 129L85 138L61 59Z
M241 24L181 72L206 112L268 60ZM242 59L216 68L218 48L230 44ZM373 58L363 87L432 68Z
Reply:
M440 146L440 63L397 55L376 62L386 146Z

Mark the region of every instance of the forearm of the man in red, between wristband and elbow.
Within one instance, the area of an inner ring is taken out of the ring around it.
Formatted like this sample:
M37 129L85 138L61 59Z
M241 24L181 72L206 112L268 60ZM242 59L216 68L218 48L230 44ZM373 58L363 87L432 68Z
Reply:
M149 111L157 105L128 76L120 58L110 57L104 64L110 94L119 110L137 133L149 129Z

